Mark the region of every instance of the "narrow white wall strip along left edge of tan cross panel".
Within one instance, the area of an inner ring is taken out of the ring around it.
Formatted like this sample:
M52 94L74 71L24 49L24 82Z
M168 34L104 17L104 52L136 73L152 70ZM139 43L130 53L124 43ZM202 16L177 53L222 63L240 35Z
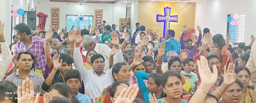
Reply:
M131 29L133 30L136 28L136 23L138 22L138 8L139 8L139 1L132 2L131 5Z

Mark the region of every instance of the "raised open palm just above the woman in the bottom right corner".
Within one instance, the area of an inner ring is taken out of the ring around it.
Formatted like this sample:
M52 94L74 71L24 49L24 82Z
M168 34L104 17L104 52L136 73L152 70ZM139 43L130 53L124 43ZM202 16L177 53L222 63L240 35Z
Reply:
M236 64L229 63L228 69L224 66L223 85L232 85L236 82L237 76L235 73ZM201 80L202 81L202 80Z

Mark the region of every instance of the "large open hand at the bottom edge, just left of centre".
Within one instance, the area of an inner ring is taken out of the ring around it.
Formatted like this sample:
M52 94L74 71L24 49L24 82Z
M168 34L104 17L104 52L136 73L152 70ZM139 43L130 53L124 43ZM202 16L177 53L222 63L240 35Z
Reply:
M121 93L115 100L115 103L133 103L139 92L139 87L137 84L130 85L128 89L122 89Z

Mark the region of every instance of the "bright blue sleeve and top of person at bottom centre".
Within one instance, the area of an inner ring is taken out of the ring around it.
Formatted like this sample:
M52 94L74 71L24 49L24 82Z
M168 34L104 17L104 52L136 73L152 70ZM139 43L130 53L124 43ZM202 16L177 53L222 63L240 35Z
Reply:
M141 90L141 92L143 94L143 98L145 99L146 103L150 103L149 97L148 97L148 95L149 95L148 88L144 83L144 80L148 80L148 73L137 71L136 78L138 81L139 89ZM153 96L153 94L152 94L152 96Z

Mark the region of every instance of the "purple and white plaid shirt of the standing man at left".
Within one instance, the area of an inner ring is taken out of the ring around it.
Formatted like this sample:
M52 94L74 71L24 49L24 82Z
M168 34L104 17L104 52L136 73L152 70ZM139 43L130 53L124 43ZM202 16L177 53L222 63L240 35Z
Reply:
M13 57L20 52L31 52L35 57L35 69L41 70L45 75L46 57L45 57L45 39L32 36L32 42L28 49L24 42L18 41L15 46ZM50 47L50 53L52 54L52 48Z

